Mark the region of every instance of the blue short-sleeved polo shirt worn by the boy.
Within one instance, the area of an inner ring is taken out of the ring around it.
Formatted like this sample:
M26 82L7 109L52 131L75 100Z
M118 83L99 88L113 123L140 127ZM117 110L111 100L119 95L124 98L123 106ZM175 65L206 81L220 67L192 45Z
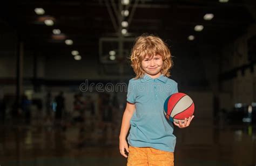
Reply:
M165 99L177 92L177 83L164 75L151 78L145 74L129 81L127 102L136 105L130 120L129 145L174 151L173 124L165 118L163 109Z

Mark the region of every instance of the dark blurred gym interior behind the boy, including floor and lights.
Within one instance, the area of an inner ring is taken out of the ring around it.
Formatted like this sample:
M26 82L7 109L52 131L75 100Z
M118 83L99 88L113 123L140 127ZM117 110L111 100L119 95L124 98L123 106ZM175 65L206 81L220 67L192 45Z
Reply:
M196 105L174 129L176 165L255 165L255 20L250 0L2 2L0 165L126 165L123 85L143 33L170 46Z

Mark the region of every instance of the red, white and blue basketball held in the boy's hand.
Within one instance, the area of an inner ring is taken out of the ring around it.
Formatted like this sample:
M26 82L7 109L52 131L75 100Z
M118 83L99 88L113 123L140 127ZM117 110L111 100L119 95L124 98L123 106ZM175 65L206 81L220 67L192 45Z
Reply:
M185 93L173 93L164 103L164 115L170 121L185 121L194 114L193 100Z

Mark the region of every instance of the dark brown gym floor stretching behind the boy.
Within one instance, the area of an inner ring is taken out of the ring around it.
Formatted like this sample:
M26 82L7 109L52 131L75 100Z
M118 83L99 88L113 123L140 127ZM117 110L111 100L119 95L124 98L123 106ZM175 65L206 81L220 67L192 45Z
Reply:
M1 125L0 165L126 165L118 150L119 127L111 126ZM197 123L176 128L175 164L255 165L255 128Z

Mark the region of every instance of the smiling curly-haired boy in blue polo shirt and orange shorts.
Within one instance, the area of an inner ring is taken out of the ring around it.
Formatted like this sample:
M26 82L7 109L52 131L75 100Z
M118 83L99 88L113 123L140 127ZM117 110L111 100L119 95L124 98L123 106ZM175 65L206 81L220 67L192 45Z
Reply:
M172 59L163 40L153 35L136 39L132 49L131 66L136 77L129 81L126 109L119 135L120 153L127 157L127 165L174 165L176 136L173 124L179 128L190 125L194 116L184 124L164 117L165 99L178 92L177 83L170 78ZM128 148L126 135L130 129Z

